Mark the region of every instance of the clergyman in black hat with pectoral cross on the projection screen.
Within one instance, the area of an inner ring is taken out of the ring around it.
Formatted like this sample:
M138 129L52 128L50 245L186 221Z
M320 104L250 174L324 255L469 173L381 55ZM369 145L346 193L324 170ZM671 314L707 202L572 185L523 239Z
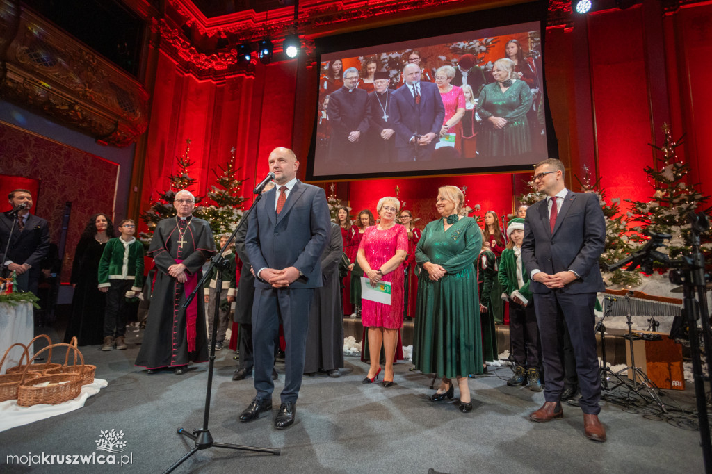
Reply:
M394 113L390 76L387 71L378 71L373 78L375 91L368 95L368 117L370 121L367 133L367 153L365 158L374 164L395 161Z

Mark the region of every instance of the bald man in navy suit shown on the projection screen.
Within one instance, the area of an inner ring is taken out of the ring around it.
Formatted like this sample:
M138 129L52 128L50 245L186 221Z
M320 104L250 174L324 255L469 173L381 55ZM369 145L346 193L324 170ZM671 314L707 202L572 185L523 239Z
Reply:
M403 68L405 84L393 93L398 162L424 162L432 158L445 118L438 86L420 80L420 66Z

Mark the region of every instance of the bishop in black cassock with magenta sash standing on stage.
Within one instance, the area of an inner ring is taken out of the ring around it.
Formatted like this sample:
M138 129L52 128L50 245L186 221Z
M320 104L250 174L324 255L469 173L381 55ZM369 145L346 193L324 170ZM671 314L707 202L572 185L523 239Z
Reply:
M194 297L187 309L181 305L200 280L203 264L215 253L215 241L209 223L191 214L192 194L179 191L175 199L178 216L158 223L148 249L157 272L135 364L150 372L170 367L184 374L188 362L208 359L203 298Z

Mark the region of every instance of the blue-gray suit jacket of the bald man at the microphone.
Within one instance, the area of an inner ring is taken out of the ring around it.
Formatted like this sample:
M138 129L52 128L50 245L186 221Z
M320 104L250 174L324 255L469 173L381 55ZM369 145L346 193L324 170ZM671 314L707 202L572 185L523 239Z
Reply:
M295 267L301 275L290 288L322 285L320 258L331 231L329 207L323 189L297 181L279 215L275 194L263 194L247 223L245 249L255 272L261 268ZM255 279L255 288L272 288Z

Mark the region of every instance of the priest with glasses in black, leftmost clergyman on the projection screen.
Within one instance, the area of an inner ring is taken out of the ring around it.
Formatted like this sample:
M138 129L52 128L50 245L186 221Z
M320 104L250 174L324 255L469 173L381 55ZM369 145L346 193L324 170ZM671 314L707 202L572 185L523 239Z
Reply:
M344 86L329 96L328 117L330 167L340 169L362 159L364 140L369 122L367 116L368 93L359 89L357 68L344 71Z

